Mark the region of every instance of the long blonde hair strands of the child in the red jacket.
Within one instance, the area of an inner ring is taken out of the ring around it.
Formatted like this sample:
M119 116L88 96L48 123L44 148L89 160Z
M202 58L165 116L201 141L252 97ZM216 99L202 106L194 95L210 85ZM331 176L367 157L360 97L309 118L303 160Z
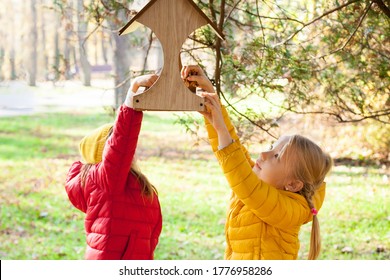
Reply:
M106 141L111 136L112 132L113 132L113 127L111 127L111 129L109 130ZM83 187L85 186L85 181L87 179L89 170L93 165L95 164L86 163L81 168L80 180L81 180L81 185ZM142 187L141 193L143 195L152 199L154 194L158 194L157 189L150 183L148 178L141 172L141 169L137 165L135 158L133 158L133 161L131 163L130 172L137 178L138 182L141 184Z

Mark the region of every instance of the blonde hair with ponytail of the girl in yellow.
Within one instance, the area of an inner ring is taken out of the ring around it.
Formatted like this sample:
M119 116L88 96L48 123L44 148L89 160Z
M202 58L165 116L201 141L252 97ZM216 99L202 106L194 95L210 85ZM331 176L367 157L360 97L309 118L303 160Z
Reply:
M333 166L332 158L317 144L301 135L292 135L283 147L282 154L286 162L294 163L289 171L289 176L303 183L303 187L298 194L302 195L306 199L309 208L313 209L313 195L323 184L325 176L331 170ZM317 259L320 250L320 225L317 215L314 214L308 259Z

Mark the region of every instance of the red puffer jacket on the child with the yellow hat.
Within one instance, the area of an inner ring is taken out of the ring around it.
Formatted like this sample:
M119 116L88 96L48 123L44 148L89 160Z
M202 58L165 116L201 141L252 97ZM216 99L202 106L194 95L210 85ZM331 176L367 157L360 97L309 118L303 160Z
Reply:
M157 194L142 196L130 166L143 114L122 106L102 162L91 167L81 186L81 162L71 166L65 184L72 204L86 213L86 259L153 259L162 229Z

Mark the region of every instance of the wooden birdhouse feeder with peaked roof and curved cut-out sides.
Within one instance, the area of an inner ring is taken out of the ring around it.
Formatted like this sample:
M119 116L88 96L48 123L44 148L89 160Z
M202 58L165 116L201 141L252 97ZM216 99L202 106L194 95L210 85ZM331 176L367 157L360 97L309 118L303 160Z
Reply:
M188 36L209 24L224 39L216 25L192 0L151 0L120 31L132 31L139 23L160 40L164 66L156 83L134 96L134 108L150 111L204 111L204 100L191 92L180 77L180 50Z

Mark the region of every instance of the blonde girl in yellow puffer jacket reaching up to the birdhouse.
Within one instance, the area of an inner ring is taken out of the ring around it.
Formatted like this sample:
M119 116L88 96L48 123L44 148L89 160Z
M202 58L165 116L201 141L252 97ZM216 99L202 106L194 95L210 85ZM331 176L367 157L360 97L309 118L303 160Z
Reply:
M309 259L320 252L317 213L325 197L332 159L300 136L282 136L254 162L240 143L226 109L202 69L186 66L182 78L206 92L206 129L232 189L225 259L297 259L299 230L312 221ZM189 76L191 74L191 76Z

